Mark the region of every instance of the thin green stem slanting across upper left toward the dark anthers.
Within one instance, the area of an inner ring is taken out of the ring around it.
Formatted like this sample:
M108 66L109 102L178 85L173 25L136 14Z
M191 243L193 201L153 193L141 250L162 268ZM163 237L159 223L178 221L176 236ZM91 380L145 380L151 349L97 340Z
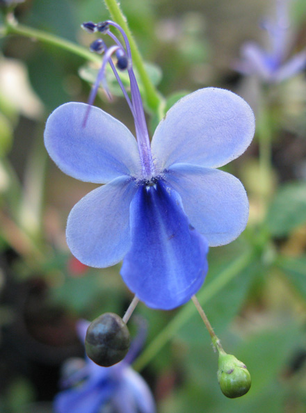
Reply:
M6 19L6 25L4 27L4 30L2 31L2 34L22 35L26 38L39 40L40 42L60 47L61 49L70 51L73 54L81 56L82 58L86 58L87 60L101 64L101 57L97 56L96 54L92 54L85 47L79 46L78 44L70 42L69 40L64 40L56 35L45 33L45 31L23 26L22 24L19 24L15 20L13 20L11 17L8 17Z

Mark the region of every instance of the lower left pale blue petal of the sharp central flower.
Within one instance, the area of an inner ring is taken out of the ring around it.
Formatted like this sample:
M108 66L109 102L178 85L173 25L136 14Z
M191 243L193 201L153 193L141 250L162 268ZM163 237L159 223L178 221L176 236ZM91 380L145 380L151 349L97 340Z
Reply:
M114 179L88 193L68 216L67 244L83 264L104 268L122 260L130 248L129 205L136 181Z

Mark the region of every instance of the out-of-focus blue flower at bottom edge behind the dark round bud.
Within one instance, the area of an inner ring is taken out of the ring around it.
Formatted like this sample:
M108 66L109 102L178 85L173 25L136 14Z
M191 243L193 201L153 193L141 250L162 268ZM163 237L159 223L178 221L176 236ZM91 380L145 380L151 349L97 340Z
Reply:
M77 324L82 342L89 324L87 321ZM142 341L136 338L138 340ZM97 366L86 357L86 362L63 381L63 386L69 388L56 396L55 412L154 413L154 399L147 383L129 366L141 344L132 343L125 359L111 367Z

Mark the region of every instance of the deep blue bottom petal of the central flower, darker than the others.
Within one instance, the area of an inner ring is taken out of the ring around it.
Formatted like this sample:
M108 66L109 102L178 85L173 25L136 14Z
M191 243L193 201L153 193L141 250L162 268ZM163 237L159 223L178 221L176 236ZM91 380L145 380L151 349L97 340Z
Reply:
M124 282L149 307L184 304L204 281L208 246L189 224L177 192L163 181L140 186L131 202L130 226Z

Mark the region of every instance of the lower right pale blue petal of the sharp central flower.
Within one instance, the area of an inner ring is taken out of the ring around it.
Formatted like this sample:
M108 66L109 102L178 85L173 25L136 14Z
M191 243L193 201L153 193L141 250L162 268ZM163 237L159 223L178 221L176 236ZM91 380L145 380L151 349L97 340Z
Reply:
M248 222L248 197L239 179L211 168L173 165L168 183L182 197L191 225L209 246L234 241Z

